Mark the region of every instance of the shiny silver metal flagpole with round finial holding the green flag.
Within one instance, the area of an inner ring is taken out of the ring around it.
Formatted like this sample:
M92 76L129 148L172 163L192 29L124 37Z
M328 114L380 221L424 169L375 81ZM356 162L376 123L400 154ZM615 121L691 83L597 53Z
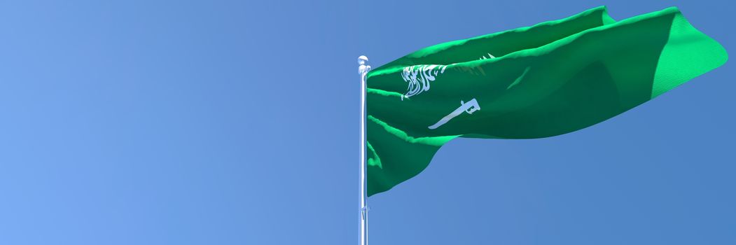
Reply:
M370 71L368 57L358 57L358 73L361 74L361 177L360 221L361 245L368 244L368 201L366 196L366 75Z

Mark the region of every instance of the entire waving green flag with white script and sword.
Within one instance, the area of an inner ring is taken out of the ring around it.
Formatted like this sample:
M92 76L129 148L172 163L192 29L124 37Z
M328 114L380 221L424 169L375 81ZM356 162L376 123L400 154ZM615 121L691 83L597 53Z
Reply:
M419 174L453 138L573 132L727 59L676 7L623 21L597 7L420 49L367 76L368 195Z

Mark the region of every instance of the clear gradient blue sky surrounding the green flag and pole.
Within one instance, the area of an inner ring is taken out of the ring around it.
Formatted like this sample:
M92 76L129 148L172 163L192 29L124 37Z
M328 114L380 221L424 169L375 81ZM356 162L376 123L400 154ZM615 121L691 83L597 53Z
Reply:
M2 1L0 244L355 244L358 73L606 4ZM369 199L371 244L736 244L734 62L555 138L459 139Z

